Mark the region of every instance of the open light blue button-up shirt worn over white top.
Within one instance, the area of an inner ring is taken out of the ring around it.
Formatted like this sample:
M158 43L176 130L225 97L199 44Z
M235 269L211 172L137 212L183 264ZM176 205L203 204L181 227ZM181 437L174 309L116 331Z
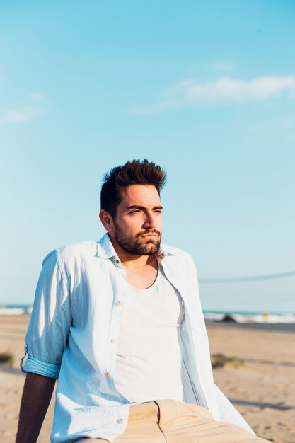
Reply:
M185 312L180 328L184 401L209 408L215 420L250 430L214 385L192 258L164 245L158 255ZM21 368L58 379L52 443L85 437L112 441L125 431L130 403L114 381L125 277L108 234L98 243L56 249L43 261L25 338L28 359Z

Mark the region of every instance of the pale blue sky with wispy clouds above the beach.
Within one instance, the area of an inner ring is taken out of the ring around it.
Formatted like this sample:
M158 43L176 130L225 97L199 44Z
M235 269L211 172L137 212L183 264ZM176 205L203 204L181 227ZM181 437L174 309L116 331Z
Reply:
M200 278L295 270L293 1L1 1L2 303L98 240L101 178L161 164L163 241ZM204 309L295 311L295 277L201 284Z

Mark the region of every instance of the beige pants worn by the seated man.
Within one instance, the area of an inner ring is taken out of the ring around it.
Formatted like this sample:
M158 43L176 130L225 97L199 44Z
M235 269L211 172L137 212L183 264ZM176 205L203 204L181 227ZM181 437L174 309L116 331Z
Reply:
M106 442L80 439L79 443ZM76 442L76 443L78 443ZM130 407L124 434L115 443L262 443L242 427L212 420L209 410L176 400L157 400Z

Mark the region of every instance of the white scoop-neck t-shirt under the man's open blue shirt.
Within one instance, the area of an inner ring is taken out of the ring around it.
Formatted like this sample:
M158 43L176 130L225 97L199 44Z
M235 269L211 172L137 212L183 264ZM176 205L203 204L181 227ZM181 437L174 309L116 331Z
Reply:
M180 326L182 303L161 264L154 284L127 284L117 343L115 384L131 403L183 401Z

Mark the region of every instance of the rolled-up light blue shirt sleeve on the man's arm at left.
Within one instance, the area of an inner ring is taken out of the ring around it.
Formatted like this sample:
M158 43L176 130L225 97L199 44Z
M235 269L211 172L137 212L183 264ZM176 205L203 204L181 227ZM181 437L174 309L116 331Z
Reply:
M43 260L25 336L28 359L24 365L22 359L22 371L58 379L70 326L69 283L59 249L56 249Z

